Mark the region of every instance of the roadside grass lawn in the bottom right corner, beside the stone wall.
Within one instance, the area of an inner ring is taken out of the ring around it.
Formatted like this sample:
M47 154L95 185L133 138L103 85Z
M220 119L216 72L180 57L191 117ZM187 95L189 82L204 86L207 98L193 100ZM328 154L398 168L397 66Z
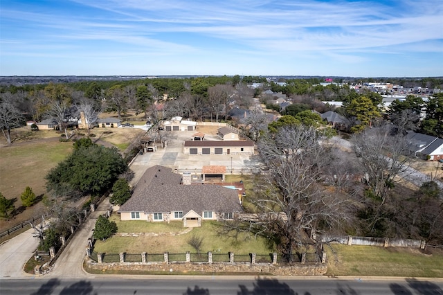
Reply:
M443 277L443 251L425 255L419 249L342 244L332 249L325 245L329 276Z

